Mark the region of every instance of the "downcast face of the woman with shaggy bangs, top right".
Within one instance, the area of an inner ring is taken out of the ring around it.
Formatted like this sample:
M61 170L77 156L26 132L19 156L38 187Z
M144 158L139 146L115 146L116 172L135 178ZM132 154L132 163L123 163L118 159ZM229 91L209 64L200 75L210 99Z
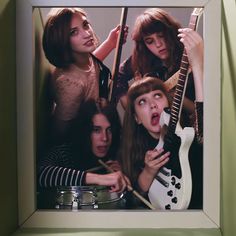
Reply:
M154 33L147 35L143 38L146 47L155 56L159 57L162 61L165 61L169 57L169 51L164 39L163 33Z

